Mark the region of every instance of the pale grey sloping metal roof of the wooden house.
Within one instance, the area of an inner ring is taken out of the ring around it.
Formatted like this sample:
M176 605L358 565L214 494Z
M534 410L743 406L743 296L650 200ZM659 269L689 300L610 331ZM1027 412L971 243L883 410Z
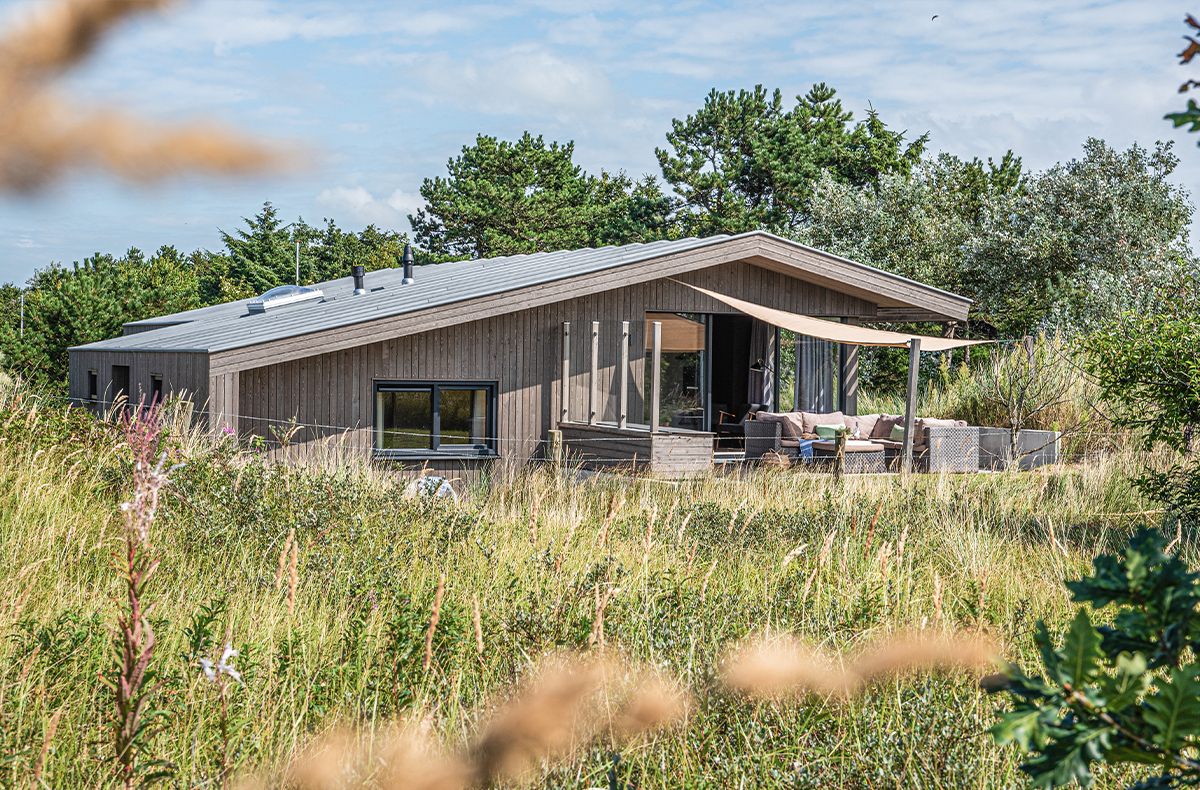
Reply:
M418 267L416 281L401 285L402 269L382 269L366 276L367 293L354 295L353 280L341 277L317 283L325 297L251 313L250 299L188 310L126 324L133 334L102 340L77 349L89 351L174 351L216 353L257 346L298 335L348 327L430 307L450 305L479 297L518 291L558 280L613 269L697 247L721 244L731 238L770 235L760 231L740 237L715 235L595 247L560 252L506 256L481 261L458 261ZM772 237L775 238L775 237ZM796 244L787 241L788 244ZM802 246L802 245L797 245ZM854 267L863 264L847 261ZM870 267L863 267L870 269ZM895 276L895 275L888 275ZM895 276L898 281L911 282ZM918 283L920 285L920 283ZM922 285L930 292L970 301ZM151 331L146 331L151 330Z

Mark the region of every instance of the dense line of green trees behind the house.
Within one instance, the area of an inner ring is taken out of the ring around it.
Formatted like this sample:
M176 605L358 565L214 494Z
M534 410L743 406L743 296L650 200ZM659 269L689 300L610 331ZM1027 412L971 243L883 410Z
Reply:
M480 134L445 176L421 186L425 207L409 217L418 262L766 229L971 297L965 329L994 336L1087 329L1195 269L1193 207L1168 180L1177 164L1170 144L1117 151L1088 139L1079 158L1044 172L1012 151L986 162L930 156L928 134L910 138L874 109L856 121L824 84L791 107L761 85L714 90L672 122L666 142L655 150L660 180L589 174L575 164L574 143ZM292 282L296 243L300 281L320 282L353 263L398 265L409 239L329 220L284 223L266 203L221 240L217 252L97 253L52 264L23 289L5 286L4 366L54 384L68 346Z

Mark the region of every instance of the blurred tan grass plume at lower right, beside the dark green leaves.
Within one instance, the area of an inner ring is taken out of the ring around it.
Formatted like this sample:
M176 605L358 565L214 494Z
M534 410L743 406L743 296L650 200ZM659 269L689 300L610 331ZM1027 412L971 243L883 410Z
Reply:
M793 639L758 641L734 653L724 672L726 686L751 696L779 699L814 693L846 699L869 683L904 672L977 668L995 652L978 639L901 636L847 660Z

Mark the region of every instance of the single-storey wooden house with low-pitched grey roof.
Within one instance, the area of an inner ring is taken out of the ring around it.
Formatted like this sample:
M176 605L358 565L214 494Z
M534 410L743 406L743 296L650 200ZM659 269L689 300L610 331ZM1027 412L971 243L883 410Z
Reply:
M960 322L970 305L763 232L356 274L126 324L71 349L71 397L186 395L215 431L397 468L472 474L564 441L596 465L683 472L779 396L778 329L690 286L850 324ZM799 357L797 397L856 413L856 347Z

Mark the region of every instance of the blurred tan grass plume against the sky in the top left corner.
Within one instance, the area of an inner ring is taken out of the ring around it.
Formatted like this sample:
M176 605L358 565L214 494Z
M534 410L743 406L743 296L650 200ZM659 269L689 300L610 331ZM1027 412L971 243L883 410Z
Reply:
M79 109L52 83L113 26L167 0L60 0L0 40L0 190L30 191L90 166L136 181L184 172L276 169L283 157L212 122L155 125L112 109Z

